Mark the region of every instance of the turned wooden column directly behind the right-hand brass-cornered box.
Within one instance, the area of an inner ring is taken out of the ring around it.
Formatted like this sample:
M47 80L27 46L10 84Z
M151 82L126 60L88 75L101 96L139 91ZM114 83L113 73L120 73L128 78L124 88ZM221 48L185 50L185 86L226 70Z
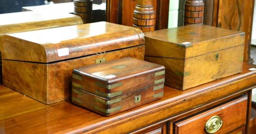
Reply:
M204 23L204 1L186 0L184 10L184 25Z

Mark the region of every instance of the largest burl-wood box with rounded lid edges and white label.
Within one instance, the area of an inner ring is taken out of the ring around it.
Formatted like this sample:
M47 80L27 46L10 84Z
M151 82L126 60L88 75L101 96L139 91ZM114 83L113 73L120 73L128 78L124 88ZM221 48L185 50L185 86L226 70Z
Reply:
M70 96L74 68L145 54L140 29L109 22L7 34L0 41L3 85L46 104Z

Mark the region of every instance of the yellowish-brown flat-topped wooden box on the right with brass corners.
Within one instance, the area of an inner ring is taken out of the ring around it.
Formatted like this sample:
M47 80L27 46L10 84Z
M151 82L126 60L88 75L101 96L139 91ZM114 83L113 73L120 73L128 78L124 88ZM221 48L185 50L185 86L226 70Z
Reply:
M189 89L240 73L244 33L195 24L145 33L145 60L166 68L165 85Z

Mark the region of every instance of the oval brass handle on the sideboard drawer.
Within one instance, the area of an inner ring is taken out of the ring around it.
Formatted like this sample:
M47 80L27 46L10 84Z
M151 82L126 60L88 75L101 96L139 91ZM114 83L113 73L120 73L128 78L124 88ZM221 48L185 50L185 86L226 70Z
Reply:
M223 121L221 121L220 116L214 115L205 124L205 130L207 133L215 133L216 131L220 130L222 124Z

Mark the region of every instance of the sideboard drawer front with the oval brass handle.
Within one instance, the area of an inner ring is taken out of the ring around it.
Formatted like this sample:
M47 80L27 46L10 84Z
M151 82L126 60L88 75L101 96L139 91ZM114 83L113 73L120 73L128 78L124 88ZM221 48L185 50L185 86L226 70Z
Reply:
M207 122L211 124L212 127L216 124L215 128L219 128L218 123L221 124L220 129L215 133L244 133L246 107L247 96L241 96L219 107L212 108L211 110L207 110L182 121L177 121L174 124L175 134L207 133ZM216 115L220 117L220 120ZM208 130L211 129L211 125L208 127ZM214 133L214 130L216 129L210 131Z

